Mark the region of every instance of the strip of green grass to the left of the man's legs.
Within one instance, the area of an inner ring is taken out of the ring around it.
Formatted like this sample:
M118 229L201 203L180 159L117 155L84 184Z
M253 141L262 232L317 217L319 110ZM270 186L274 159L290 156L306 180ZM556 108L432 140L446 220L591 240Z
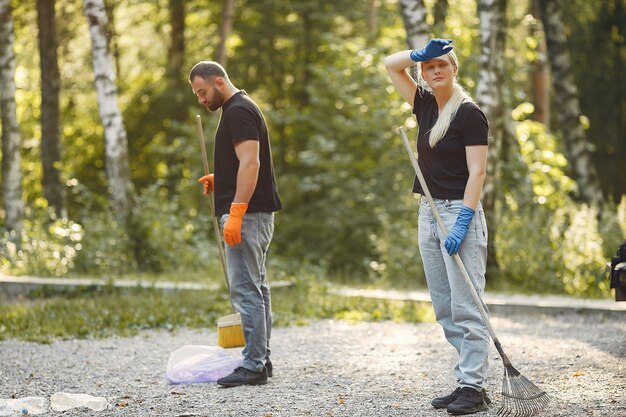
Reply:
M44 293L0 306L0 338L50 342L132 336L145 329L212 328L228 308L225 297L203 291L78 288L61 296Z

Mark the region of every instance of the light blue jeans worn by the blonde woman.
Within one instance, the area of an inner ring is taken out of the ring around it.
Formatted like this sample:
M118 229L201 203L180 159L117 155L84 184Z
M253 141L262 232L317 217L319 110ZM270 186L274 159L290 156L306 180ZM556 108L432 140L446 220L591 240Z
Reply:
M462 200L435 199L443 223L450 230ZM482 389L489 368L490 337L461 271L443 246L445 237L425 197L419 209L418 240L426 282L437 322L459 354L454 374L460 387ZM459 255L482 301L487 265L487 225L479 203ZM487 306L483 302L485 311Z

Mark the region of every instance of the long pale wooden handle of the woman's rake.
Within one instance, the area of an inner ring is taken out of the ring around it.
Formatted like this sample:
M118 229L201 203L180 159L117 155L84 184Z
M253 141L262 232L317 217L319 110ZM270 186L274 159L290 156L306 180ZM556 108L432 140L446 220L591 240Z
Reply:
M433 211L435 218L437 219L437 224L439 224L439 228L441 228L441 231L443 232L443 234L447 236L448 230L446 229L446 225L443 223L443 220L441 219L441 216L439 215L439 211L435 207L435 202L433 201L433 197L430 195L430 191L428 190L428 186L426 185L426 181L424 180L422 171L420 170L420 167L417 163L417 159L415 158L415 155L413 154L413 148L411 147L409 138L406 136L404 127L401 126L398 128L398 130L400 131L400 134L402 135L404 146L406 147L406 150L409 153L409 158L411 158L413 169L415 169L415 173L417 174L417 179L419 180L419 183L422 186L422 190L424 190L424 194L426 195L426 200L428 201L428 204L430 205L430 208ZM474 303L476 303L476 306L478 307L478 311L480 312L480 315L482 316L483 321L485 322L487 331L489 331L489 334L491 335L491 338L493 339L493 343L496 346L498 353L502 357L502 360L505 362L505 364L510 365L509 358L506 356L506 354L502 350L502 346L500 345L500 341L498 340L496 336L496 332L493 330L493 326L491 325L491 321L489 320L487 311L485 310L485 307L483 306L483 302L481 301L480 297L478 297L476 288L474 288L474 284L472 284L472 280L470 279L469 274L467 273L467 269L465 269L465 265L463 265L463 261L461 260L461 257L459 256L458 253L455 253L453 255L453 258L457 266L459 267L459 270L461 271L461 275L463 275L463 278L465 279L467 286L469 287L470 294L472 295L472 298L474 299Z

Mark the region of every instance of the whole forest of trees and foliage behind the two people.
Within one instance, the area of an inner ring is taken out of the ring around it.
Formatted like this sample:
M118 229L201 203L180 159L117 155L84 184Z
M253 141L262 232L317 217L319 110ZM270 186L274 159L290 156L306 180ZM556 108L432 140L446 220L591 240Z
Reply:
M610 294L626 237L623 0L0 0L0 272L219 276L203 164L222 62L267 119L270 279L424 285L411 110L382 58L452 38L491 123L488 288Z

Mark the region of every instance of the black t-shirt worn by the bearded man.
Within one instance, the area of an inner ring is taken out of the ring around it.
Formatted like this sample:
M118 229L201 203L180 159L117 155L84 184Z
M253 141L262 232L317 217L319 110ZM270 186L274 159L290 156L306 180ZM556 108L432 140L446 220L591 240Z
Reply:
M245 140L259 141L259 178L248 202L248 213L274 212L282 208L272 163L269 133L261 109L241 90L222 106L215 133L215 215L230 211L237 189L239 159L235 144Z

